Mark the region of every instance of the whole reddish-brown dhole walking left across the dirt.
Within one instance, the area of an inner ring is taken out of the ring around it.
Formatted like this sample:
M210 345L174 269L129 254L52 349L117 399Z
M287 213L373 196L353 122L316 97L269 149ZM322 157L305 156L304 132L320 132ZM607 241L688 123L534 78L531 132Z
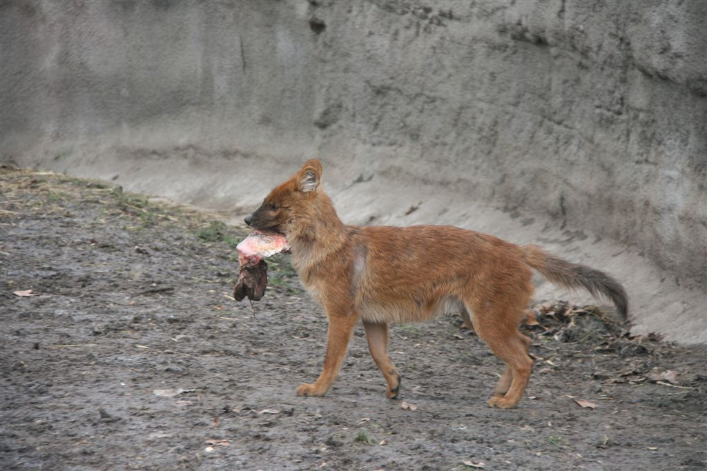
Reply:
M515 407L533 364L530 338L518 331L533 292L531 268L558 285L609 297L626 318L626 293L617 281L539 246L449 226L344 225L320 188L321 178L321 163L308 161L245 218L251 227L286 235L294 268L329 318L322 374L302 384L298 395L329 390L361 319L387 397L397 397L400 376L387 354L388 324L456 311L506 363L489 405Z

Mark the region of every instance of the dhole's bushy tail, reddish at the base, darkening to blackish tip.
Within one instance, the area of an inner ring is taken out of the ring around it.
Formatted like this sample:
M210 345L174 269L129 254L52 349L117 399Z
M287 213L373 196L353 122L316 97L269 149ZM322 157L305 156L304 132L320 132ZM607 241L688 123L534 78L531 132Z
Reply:
M603 294L614 302L624 321L628 318L629 299L626 291L606 273L548 254L537 245L521 246L520 251L525 263L538 270L549 282L566 288L584 288L595 297Z

